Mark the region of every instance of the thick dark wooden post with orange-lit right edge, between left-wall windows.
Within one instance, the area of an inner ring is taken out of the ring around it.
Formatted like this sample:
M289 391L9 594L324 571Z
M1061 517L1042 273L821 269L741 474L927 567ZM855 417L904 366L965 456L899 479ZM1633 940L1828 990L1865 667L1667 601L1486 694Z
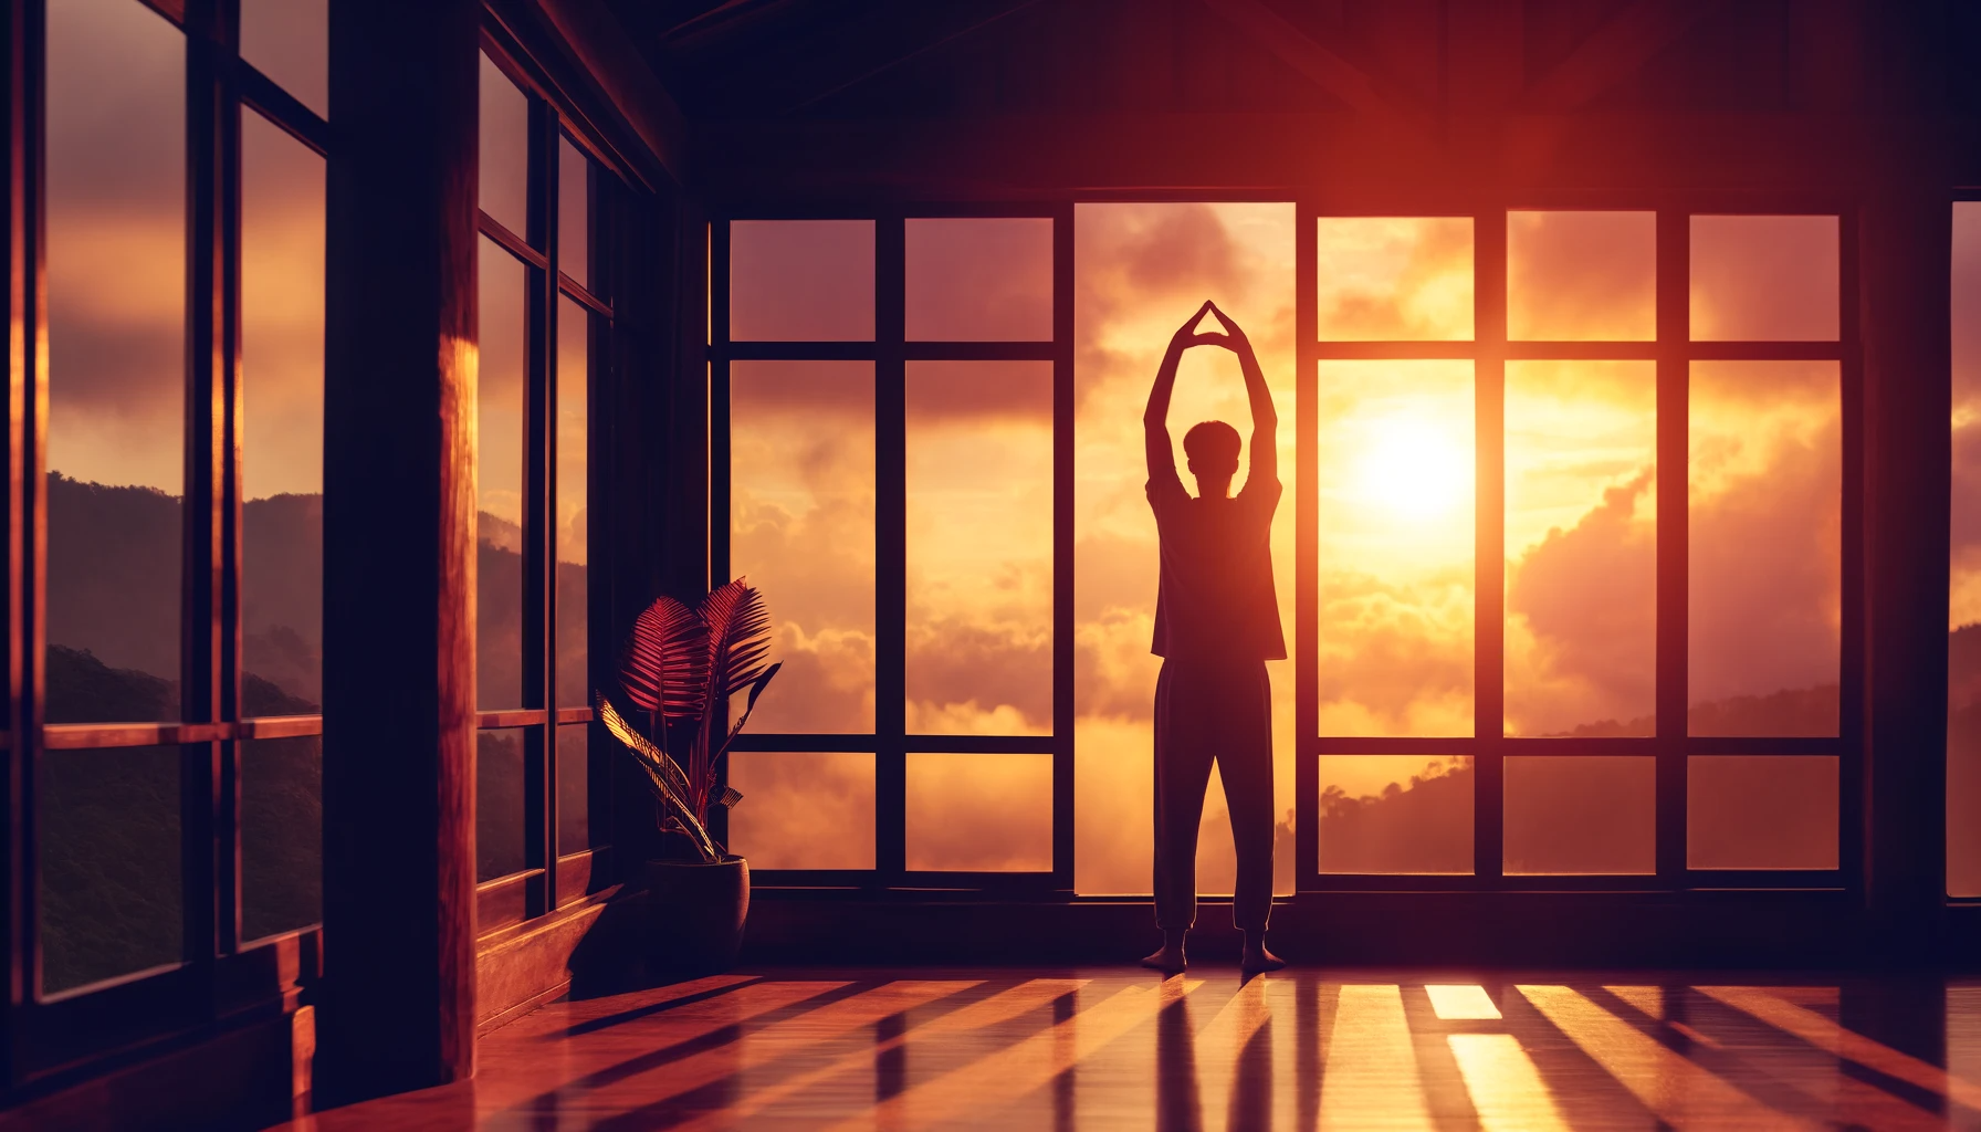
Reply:
M473 1073L475 0L331 6L319 1098Z

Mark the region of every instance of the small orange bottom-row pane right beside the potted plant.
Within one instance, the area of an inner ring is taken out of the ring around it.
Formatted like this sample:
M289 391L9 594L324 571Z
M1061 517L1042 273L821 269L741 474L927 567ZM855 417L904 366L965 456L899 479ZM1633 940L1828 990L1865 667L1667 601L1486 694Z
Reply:
M729 852L751 868L874 868L874 755L729 755Z

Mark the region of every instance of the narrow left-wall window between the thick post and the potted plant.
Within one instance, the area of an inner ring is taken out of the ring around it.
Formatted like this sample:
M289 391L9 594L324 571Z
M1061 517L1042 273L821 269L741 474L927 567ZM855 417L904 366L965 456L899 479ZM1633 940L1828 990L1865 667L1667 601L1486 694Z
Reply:
M590 406L612 176L527 67L481 56L475 880L483 932L604 876L592 823Z

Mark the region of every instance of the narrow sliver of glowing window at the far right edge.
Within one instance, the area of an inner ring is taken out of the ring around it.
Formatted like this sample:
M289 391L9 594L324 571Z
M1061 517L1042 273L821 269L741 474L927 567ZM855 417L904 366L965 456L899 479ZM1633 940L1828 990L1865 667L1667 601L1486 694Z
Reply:
M1947 894L1981 896L1981 202L1953 206Z

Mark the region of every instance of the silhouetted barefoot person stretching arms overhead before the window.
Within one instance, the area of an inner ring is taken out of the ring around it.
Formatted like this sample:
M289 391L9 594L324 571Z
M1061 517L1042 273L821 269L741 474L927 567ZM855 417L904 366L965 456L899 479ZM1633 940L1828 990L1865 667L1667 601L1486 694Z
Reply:
M1210 313L1224 333L1197 333ZM1238 430L1204 420L1183 436L1193 500L1169 448L1169 395L1177 363L1193 345L1238 355L1252 402L1252 466L1232 498ZM1204 303L1169 339L1149 391L1143 438L1149 508L1161 537L1163 579L1155 601L1155 922L1163 948L1143 960L1161 971L1185 967L1183 936L1197 920L1197 827L1210 763L1224 779L1224 805L1238 850L1232 922L1244 932L1244 971L1282 967L1266 950L1272 910L1272 684L1266 660L1286 658L1280 603L1272 589L1272 513L1280 506L1278 414L1252 343L1224 311Z

